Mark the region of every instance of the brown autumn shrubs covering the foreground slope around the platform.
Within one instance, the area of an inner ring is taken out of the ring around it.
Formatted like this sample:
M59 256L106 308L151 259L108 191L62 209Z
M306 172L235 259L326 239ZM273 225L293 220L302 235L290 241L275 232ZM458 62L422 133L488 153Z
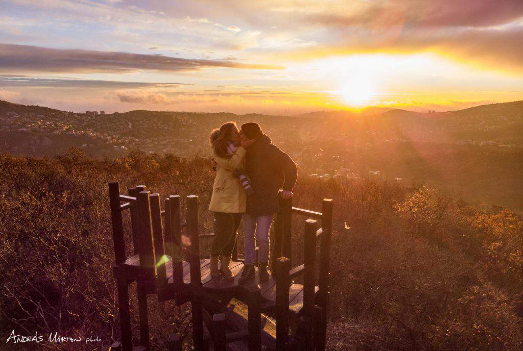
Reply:
M13 329L98 336L99 347L118 340L108 181L120 182L121 189L146 184L162 196L197 194L202 231L210 232L208 163L137 152L96 161L78 149L51 159L0 154L2 342ZM294 204L320 210L324 197L336 204L329 349L523 346L523 225L517 215L377 178L301 177ZM301 226L294 221L297 260ZM189 332L187 306L158 303L154 296L149 303L153 345L170 332Z

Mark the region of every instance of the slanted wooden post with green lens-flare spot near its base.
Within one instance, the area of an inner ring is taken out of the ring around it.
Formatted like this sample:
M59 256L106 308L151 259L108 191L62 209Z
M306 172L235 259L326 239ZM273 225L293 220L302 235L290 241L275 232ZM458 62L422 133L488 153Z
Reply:
M151 202L151 219L153 222L153 239L154 239L154 262L158 272L157 282L158 286L165 287L167 285L167 272L165 271L164 241L163 241L163 227L162 227L162 208L160 206L160 194L151 194L149 196Z

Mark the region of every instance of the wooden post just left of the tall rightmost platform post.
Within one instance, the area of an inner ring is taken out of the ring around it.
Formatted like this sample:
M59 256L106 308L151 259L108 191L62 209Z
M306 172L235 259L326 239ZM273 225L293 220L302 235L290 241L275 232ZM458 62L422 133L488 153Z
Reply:
M314 219L305 221L305 244L303 272L303 311L306 317L312 318L314 309L315 261L316 261L316 227Z

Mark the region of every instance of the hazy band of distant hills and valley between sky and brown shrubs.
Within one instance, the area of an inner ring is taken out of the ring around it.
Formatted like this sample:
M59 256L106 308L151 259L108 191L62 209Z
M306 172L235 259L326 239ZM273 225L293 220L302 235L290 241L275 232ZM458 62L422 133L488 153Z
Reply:
M257 122L313 177L379 177L429 183L523 209L523 101L420 113L372 108L281 116L134 110L86 115L0 101L0 148L53 156L75 146L96 158L212 153L222 123ZM520 166L521 165L521 166Z

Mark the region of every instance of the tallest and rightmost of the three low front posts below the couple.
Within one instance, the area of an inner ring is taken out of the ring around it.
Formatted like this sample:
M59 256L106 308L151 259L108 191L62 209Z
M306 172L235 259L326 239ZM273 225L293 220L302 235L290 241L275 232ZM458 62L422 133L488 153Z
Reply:
M276 260L276 351L286 351L289 339L289 271L291 261Z

